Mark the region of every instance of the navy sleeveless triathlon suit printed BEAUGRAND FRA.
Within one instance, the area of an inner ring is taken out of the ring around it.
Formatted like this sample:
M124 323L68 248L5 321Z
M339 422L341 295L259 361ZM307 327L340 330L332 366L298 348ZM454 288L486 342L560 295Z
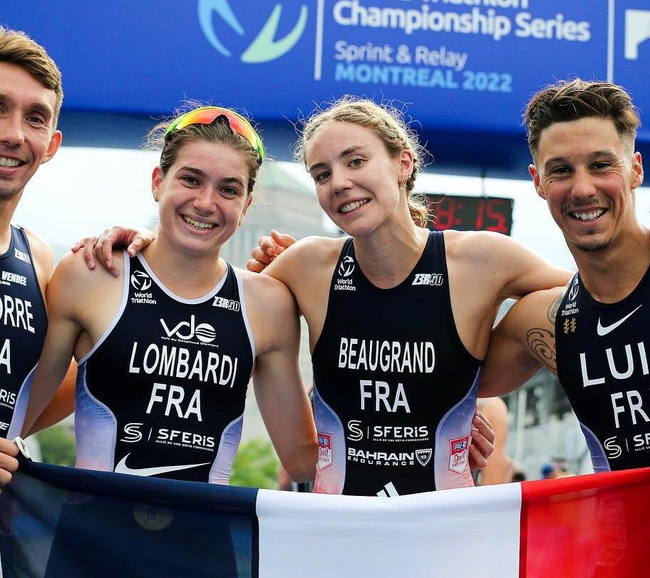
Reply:
M480 361L453 320L443 233L430 233L416 267L391 289L363 275L346 240L311 358L314 492L393 496L473 485Z

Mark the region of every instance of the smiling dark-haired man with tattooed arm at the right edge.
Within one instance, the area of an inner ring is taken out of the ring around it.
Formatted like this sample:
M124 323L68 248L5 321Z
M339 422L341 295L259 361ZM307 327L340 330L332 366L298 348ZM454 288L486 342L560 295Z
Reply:
M512 306L492 333L479 395L503 395L546 366L576 413L597 472L650 465L650 236L639 116L620 86L559 81L532 97L530 175L578 273Z

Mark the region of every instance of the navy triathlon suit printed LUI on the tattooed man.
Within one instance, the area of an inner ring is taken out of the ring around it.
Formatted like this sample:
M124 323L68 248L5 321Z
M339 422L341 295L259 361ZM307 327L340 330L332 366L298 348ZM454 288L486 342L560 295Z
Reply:
M618 303L599 303L576 274L555 318L557 377L596 472L650 466L650 273Z

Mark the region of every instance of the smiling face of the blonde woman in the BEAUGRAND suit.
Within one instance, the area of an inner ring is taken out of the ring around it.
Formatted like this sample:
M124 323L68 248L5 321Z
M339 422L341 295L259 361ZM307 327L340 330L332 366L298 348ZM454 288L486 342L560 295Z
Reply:
M316 132L306 151L321 208L353 236L366 235L388 218L411 219L398 182L413 170L403 151L391 158L381 138L354 123L332 121Z

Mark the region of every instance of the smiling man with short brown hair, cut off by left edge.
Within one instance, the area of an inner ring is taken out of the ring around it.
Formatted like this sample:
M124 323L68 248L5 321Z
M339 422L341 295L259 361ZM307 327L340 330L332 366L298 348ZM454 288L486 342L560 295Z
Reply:
M30 230L11 225L11 218L31 177L61 146L56 125L62 100L61 72L46 50L0 26L0 450L6 452L0 453L0 482L17 467L11 457L16 445L2 438L19 388L41 354L44 296L54 267L51 248ZM53 422L57 417L62 415Z

